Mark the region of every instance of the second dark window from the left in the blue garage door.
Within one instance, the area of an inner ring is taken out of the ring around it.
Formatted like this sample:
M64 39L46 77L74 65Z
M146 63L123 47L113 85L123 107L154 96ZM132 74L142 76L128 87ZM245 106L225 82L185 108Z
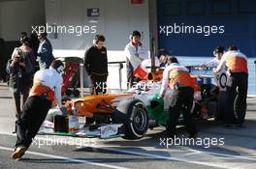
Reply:
M204 15L206 14L206 2L204 0L187 0L187 15Z

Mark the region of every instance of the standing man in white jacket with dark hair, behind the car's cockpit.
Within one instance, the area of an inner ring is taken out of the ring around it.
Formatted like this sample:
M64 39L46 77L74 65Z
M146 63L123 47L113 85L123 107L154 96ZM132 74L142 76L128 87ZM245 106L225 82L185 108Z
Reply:
M134 31L130 42L125 46L126 65L127 65L127 81L128 87L131 88L134 82L141 80L140 74L141 63L144 59L148 59L148 52L145 50L143 43L141 42L141 33Z

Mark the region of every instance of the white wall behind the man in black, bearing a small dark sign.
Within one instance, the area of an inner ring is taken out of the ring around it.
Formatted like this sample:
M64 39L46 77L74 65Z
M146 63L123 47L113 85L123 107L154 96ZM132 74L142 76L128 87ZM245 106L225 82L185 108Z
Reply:
M149 0L142 5L131 5L130 0L46 0L46 18L49 25L96 25L97 34L106 37L108 59L125 61L124 47L129 42L129 35L138 30L143 34L143 42L149 51ZM91 23L87 9L99 8L97 22ZM52 42L55 57L79 56L92 45L95 34L58 34ZM125 66L125 65L124 65ZM118 67L109 67L108 86L117 89ZM122 88L126 88L126 68L122 70Z

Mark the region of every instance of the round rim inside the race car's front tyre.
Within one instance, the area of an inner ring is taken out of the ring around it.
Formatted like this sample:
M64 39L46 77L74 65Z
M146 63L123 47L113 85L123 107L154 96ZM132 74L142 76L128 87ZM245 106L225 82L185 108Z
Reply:
M135 107L133 126L138 131L144 131L146 126L146 114L144 108Z

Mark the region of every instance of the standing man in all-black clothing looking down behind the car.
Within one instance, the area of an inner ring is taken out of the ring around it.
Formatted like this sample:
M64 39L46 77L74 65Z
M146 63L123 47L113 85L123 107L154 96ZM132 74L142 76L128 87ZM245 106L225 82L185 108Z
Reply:
M85 52L84 67L92 80L94 90L93 93L105 94L107 92L108 57L107 48L104 47L105 37L96 35L93 45Z

